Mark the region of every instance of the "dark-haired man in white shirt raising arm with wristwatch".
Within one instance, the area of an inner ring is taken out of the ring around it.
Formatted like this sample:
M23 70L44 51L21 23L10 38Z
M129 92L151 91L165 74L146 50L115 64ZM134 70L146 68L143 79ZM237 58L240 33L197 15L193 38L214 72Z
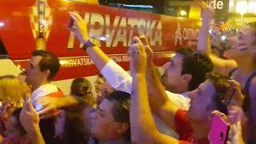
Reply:
M78 26L77 29L72 29L72 31L84 44L84 50L90 55L98 70L101 71L114 89L130 93L132 82L130 75L121 66L110 60L94 43L95 40L88 35L86 23L78 14L71 12L70 16ZM185 110L188 110L190 106L190 99L181 94L195 90L200 83L206 80L206 73L213 69L212 62L206 54L194 53L189 48L178 50L170 62L167 62L163 67L165 73L162 75L162 85L166 88L166 94L174 104ZM152 99L151 102L154 102L154 100L157 99Z

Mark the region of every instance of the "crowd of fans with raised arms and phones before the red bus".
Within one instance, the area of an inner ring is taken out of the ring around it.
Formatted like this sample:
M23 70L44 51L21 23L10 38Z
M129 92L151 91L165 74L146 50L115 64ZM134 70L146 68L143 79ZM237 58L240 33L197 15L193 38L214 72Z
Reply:
M219 58L211 53L214 12L205 2L198 6L197 50L180 47L162 66L164 74L154 66L145 35L130 45L129 74L94 43L81 16L70 12L70 30L101 73L94 83L97 95L86 78L75 78L64 95L51 84L58 58L36 50L25 72L0 77L0 142L256 143L256 22L238 30L229 59ZM213 125L214 118L228 128Z

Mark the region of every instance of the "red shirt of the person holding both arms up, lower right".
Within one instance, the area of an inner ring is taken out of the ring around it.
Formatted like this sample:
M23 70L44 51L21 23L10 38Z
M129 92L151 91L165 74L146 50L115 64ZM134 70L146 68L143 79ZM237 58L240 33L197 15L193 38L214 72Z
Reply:
M194 140L194 132L192 130L192 126L187 116L186 110L178 110L175 114L175 126L176 132L179 134L179 143L180 144L189 144L189 143L197 143L197 144L208 144L208 138L202 138L199 140Z

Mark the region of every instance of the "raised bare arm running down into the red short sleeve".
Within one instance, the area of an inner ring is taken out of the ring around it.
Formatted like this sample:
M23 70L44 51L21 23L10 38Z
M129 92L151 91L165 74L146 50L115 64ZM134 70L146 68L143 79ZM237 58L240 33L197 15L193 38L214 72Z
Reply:
M174 102L172 102L172 99L169 99L166 95L165 87L162 86L162 82L160 81L160 74L153 64L152 50L146 36L141 36L140 39L146 47L146 85L150 95L149 100L151 110L153 110L154 113L157 114L170 128L175 130L174 115L178 110L178 106L176 106Z

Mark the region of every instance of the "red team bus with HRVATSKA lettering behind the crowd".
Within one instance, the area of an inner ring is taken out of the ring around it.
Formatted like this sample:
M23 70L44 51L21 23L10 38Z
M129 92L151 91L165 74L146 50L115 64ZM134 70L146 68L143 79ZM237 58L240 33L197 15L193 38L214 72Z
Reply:
M61 69L54 83L65 94L69 93L74 78L86 77L94 82L98 70L78 39L66 29L70 21L69 11L82 15L88 23L90 36L97 38L102 50L125 70L129 68L126 53L135 35L146 34L149 38L157 66L168 61L178 46L197 44L201 25L198 20L154 14L154 6L150 5L102 6L95 0L93 2L1 0L0 75L18 75L24 70L31 52L45 45L46 50L60 58Z

